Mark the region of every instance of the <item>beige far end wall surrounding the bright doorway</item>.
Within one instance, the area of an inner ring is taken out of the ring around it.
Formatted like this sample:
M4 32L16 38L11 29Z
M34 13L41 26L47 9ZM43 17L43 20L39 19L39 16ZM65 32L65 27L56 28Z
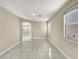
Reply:
M32 39L45 39L47 38L47 22L45 21L28 21L21 19L22 22L30 22L32 27ZM22 26L21 26L22 27ZM21 30L22 32L22 30ZM22 35L21 35L22 36Z

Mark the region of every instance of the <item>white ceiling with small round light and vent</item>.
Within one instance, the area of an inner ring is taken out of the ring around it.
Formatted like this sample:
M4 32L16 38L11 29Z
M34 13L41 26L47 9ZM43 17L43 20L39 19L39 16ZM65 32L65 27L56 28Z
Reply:
M47 21L69 0L0 0L0 5L24 19Z

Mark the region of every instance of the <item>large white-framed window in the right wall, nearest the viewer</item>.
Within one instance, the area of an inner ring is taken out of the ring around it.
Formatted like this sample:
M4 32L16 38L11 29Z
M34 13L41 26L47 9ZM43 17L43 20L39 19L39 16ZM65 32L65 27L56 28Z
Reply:
M75 43L78 41L78 5L65 11L64 37Z

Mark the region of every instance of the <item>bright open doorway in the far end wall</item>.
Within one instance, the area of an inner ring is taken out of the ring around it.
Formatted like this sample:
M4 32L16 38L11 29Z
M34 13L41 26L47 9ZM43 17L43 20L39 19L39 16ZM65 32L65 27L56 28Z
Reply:
M22 22L22 41L31 40L31 23Z

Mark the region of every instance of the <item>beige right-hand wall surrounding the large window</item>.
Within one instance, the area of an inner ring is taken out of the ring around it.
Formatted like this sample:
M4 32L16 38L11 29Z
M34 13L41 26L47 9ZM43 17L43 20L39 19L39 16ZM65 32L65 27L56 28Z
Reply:
M70 59L77 59L78 51L75 43L69 42L64 38L63 16L64 11L69 9L75 3L77 3L77 0L70 1L48 20L48 22L52 23L52 31L48 34L48 39L70 57Z

